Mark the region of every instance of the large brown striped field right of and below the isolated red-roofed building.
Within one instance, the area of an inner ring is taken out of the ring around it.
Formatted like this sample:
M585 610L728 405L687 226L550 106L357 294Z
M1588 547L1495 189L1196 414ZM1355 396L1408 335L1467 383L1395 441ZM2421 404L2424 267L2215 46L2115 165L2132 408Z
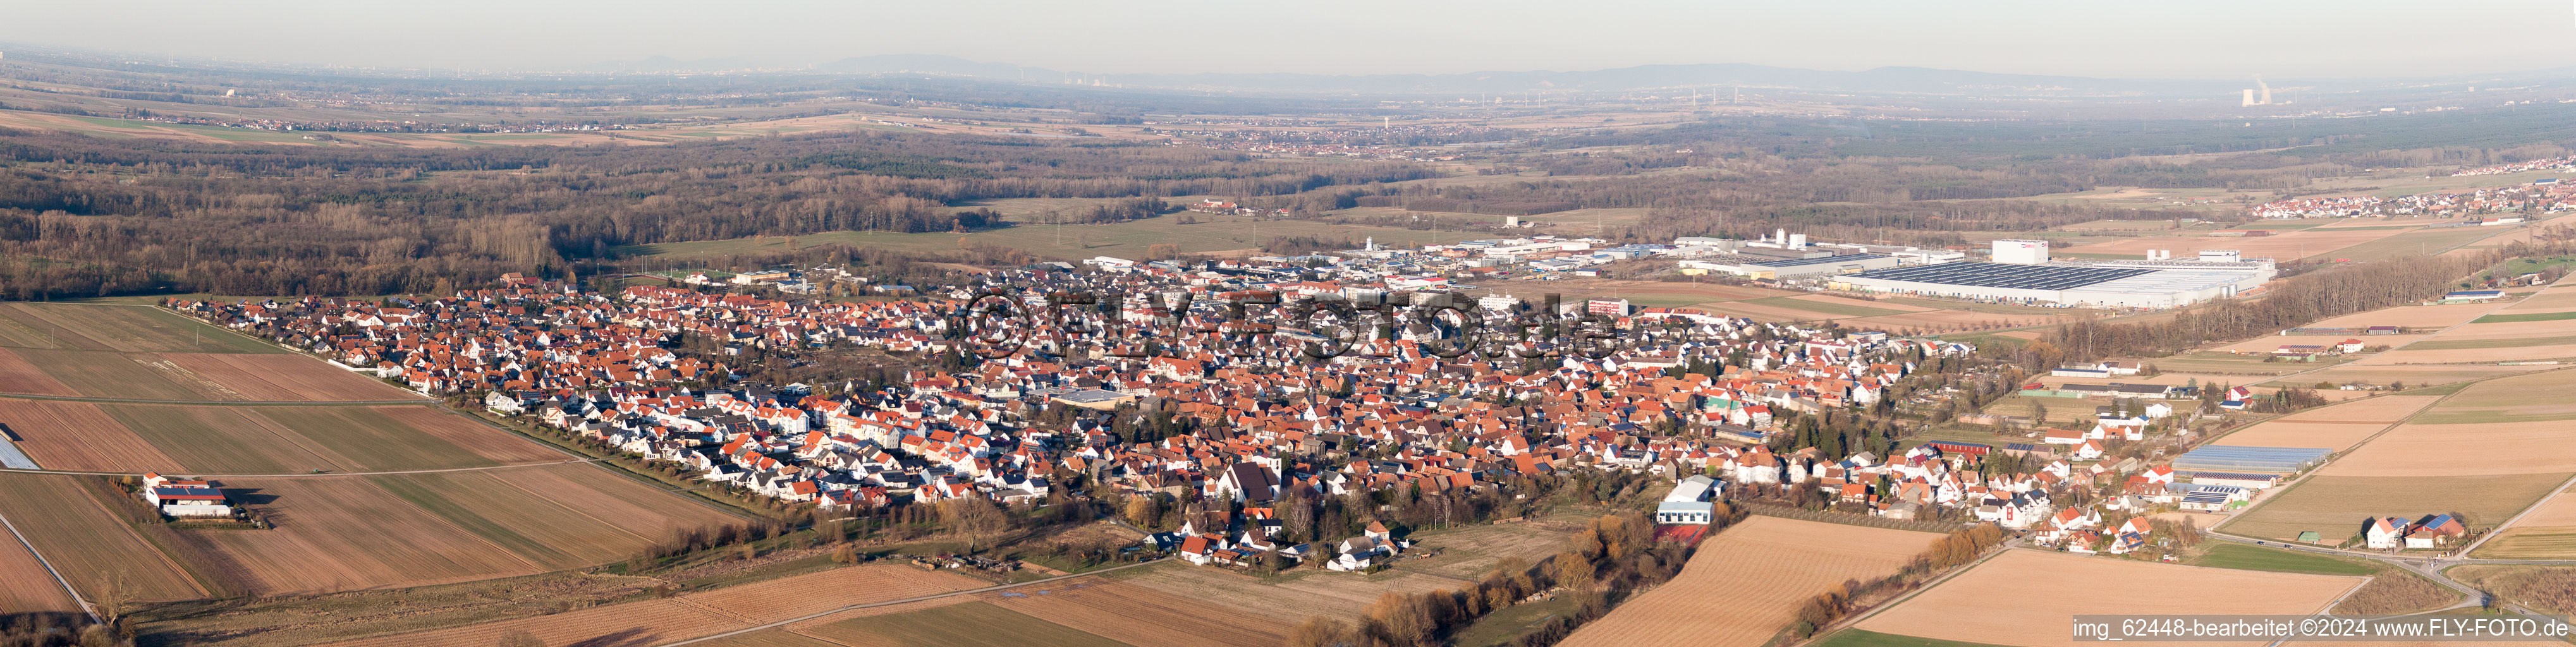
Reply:
M222 479L268 531L183 531L260 593L327 593L616 562L729 516L590 464Z

